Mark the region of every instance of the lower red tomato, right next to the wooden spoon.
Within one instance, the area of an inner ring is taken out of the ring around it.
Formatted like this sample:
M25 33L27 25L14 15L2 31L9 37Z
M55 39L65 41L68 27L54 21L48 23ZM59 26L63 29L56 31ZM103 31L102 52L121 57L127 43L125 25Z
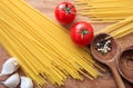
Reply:
M71 29L71 39L78 46L90 45L93 36L93 28L85 21L76 22Z

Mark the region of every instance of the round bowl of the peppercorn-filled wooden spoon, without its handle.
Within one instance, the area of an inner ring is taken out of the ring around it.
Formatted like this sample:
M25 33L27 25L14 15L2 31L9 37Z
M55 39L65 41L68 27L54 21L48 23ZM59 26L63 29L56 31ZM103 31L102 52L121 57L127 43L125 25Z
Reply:
M96 45L99 42L103 41L108 37L110 37L109 40L111 40L111 45L112 45L113 49L111 51L109 51L106 55L102 55L96 50ZM103 63L108 63L108 61L112 61L113 57L117 53L117 50L119 49L117 49L115 39L108 33L100 33L100 35L95 36L94 40L91 43L92 55L94 56L94 58L96 60L99 60L100 62L103 62Z

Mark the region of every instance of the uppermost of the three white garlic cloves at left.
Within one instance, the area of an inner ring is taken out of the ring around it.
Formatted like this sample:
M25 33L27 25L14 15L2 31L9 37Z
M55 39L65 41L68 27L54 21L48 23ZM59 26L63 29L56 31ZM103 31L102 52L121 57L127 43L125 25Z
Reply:
M17 59L13 57L9 58L3 63L0 76L13 74L14 71L17 71L18 68L19 68L19 62L17 61Z

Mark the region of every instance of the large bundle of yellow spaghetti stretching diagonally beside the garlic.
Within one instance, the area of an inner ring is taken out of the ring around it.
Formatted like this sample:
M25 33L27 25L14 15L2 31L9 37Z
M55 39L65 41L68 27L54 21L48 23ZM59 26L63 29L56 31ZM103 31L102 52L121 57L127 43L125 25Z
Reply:
M39 86L101 75L89 50L73 45L66 29L23 0L0 0L0 43Z

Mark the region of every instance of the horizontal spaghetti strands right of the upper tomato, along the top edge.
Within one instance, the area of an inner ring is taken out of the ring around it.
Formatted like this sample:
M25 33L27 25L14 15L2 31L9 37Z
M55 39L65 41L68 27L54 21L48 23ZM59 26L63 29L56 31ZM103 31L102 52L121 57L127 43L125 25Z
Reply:
M99 22L117 22L133 16L133 0L75 0L79 13Z

